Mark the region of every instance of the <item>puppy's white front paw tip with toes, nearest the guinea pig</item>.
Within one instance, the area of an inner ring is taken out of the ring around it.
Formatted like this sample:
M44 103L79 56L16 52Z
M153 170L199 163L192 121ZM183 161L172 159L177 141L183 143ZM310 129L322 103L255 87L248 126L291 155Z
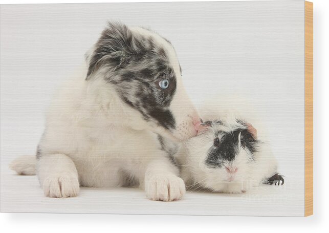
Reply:
M185 194L184 181L172 174L145 177L147 198L153 201L179 200Z

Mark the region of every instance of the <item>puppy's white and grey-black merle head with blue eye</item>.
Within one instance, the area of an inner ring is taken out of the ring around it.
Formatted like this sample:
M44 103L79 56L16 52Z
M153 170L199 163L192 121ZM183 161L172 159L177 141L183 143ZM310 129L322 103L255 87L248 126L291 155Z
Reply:
M87 62L86 80L101 79L102 90L114 89L122 107L141 119L140 125L180 141L196 135L200 119L168 40L143 28L109 23Z

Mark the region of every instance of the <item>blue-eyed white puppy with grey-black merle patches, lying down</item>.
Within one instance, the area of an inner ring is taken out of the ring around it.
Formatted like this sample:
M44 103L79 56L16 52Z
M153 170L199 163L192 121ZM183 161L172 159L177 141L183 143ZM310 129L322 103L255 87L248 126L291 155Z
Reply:
M159 138L191 138L201 122L170 42L140 27L109 23L86 61L47 115L36 155L45 195L74 197L80 185L134 184L151 200L180 199L184 182ZM22 157L12 168L33 173L26 162L33 164Z

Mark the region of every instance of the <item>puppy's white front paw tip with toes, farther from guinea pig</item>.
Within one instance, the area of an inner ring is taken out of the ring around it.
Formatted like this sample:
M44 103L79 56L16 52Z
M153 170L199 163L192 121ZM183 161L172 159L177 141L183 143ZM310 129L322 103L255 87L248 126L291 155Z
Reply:
M43 181L43 192L47 197L66 198L79 194L79 181L72 174L57 174Z

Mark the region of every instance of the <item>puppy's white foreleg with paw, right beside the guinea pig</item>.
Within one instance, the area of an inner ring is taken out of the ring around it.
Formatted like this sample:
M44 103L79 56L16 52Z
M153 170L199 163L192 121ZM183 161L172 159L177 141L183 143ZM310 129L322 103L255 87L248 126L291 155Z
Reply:
M163 159L150 162L144 179L147 198L155 201L181 199L185 194L185 184L178 176L178 168L170 161Z

